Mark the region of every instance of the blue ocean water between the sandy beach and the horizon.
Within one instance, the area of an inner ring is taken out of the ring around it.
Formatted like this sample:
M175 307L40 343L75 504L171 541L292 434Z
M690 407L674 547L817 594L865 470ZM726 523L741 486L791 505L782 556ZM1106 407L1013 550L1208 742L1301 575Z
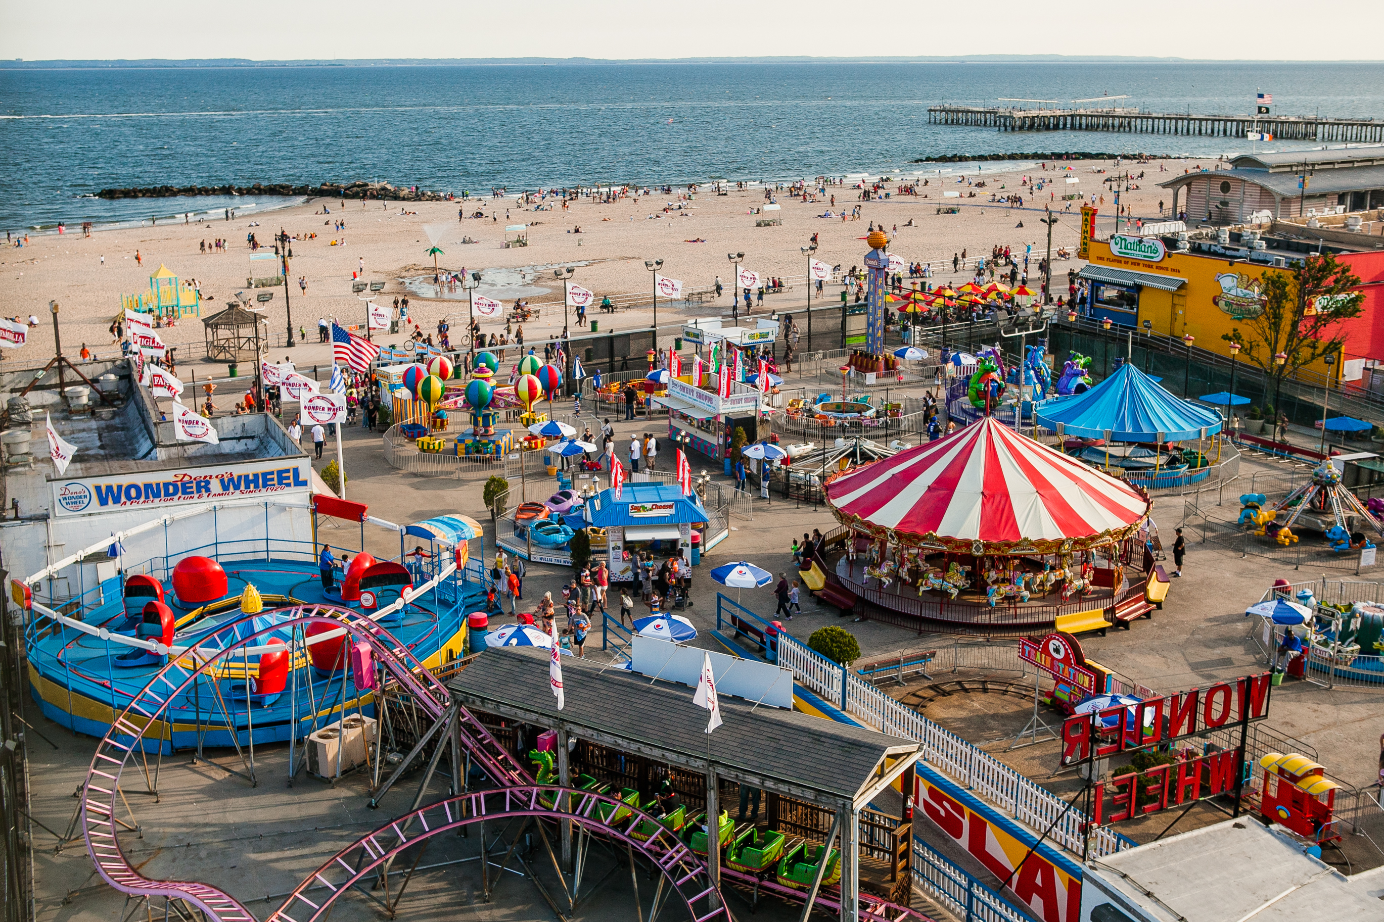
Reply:
M1384 116L1384 65L601 64L0 70L0 227L69 228L259 198L104 200L109 187L389 181L489 194L592 182L927 171L918 158L1218 156L1250 141L934 126L927 106L1128 98L1150 112ZM1086 104L1098 105L1098 104ZM1261 144L1304 149L1306 142ZM948 164L951 166L951 164ZM985 164L990 169L991 164Z

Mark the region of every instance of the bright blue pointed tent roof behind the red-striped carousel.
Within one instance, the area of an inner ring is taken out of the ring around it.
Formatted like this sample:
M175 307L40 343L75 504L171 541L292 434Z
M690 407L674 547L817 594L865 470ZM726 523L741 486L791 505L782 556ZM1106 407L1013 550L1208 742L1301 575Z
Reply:
M1178 399L1133 365L1125 362L1091 390L1038 404L1038 424L1067 435L1110 438L1117 442L1167 441L1219 433L1225 420L1210 406Z

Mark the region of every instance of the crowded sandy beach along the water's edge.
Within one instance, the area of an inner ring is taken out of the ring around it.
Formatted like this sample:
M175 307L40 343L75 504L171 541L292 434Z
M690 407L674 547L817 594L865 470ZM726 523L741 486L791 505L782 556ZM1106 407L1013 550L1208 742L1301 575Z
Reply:
M303 328L309 341L293 350L282 347L286 329L282 288L275 289L264 315L275 357L284 350L284 354L299 364L331 361L329 346L317 343L318 318L338 318L343 323L361 322L363 307L352 293L352 274L363 263L365 281L385 282L382 296L386 301L408 294L411 318L425 332L433 332L444 315L454 323L461 323L453 328L455 343L466 317L464 293L458 290L454 300L439 300L422 297L406 286L406 279L430 283L428 276L432 275L432 257L428 250L433 241L444 252L439 257L439 265L444 270L511 270L487 275L487 279L495 278L501 285L483 286L477 289L479 294L497 297L507 308L516 296L526 297L531 304L558 305L543 311L537 322L525 323L529 343L547 340L563 326L562 285L552 279L551 272L555 265L574 265L573 283L591 289L597 299L648 290L652 278L644 265L646 258L662 258L662 274L681 279L688 286L707 286L717 276L728 282L732 276L732 267L725 256L728 252L743 252L742 267L757 271L761 276L801 276L805 260L799 247L812 234L818 234L817 258L848 270L858 265L868 250L864 238L872 221L883 224L894 238L890 245L893 253L909 263L937 263L934 268L938 270L938 281L970 276L970 271L965 270L960 274L951 272L951 258L962 250L974 258L988 256L995 245L1010 246L1017 253L1023 253L1026 245L1032 245L1030 282L1035 283L1037 260L1046 247L1046 231L1039 221L1044 206L1052 205L1060 218L1053 228L1053 252L1062 246L1075 249L1080 202L1071 202L1071 210L1063 213L1062 207L1068 203L1062 200L1062 194L1074 189L1088 196L1095 194L1100 209L1099 232L1104 235L1114 228L1114 198L1110 187L1102 181L1106 176L1128 170L1136 177L1143 171L1143 180L1132 181L1139 188L1124 192L1121 203L1131 206L1133 216L1147 221L1158 220L1160 200L1171 200L1157 187L1158 181L1212 163L1205 158L1147 163L1125 160L1120 166L1113 160L1073 160L1068 164L1074 170L1068 176L1078 177L1080 182L1057 180L1039 194L1024 185L1023 178L1050 181L1060 164L1049 164L1046 173L1037 167L1006 173L998 166L994 171L987 167L974 173L937 164L927 177L929 185L919 185L918 196L898 196L895 191L901 182L894 177L883 185L895 195L861 202L861 189L855 188L861 178L851 177L844 184L828 187L826 195L817 196L815 202L775 192L781 209L764 214L753 213L753 209L765 205L764 187L743 191L732 187L727 195L717 195L710 187L702 187L691 200L685 199L685 188L674 187L671 194L653 189L648 195L631 195L612 203L581 198L566 209L554 196L537 206L520 206L513 194L504 199L473 198L465 203L347 200L343 206L339 199L314 199L296 207L237 216L231 221L169 221L155 227L97 229L90 238L83 238L76 229L61 236L33 235L28 246L10 247L0 258L0 271L6 274L8 283L0 311L7 317L22 318L32 314L39 317L40 323L30 330L29 344L24 350L6 352L4 358L24 365L42 365L51 357L50 300L62 305L62 344L68 355L75 358L83 344L98 357L116 352L119 347L112 344L108 328L119 314L119 296L147 292L148 276L161 264L183 279L197 281L203 296L202 317L209 317L223 310L235 292L246 290L245 281L251 275L246 235L256 234L264 245L281 228L299 236L292 243L291 307L295 339L298 329ZM1160 166L1167 171L1160 173ZM937 171L948 169L951 171ZM916 181L922 182L922 177ZM977 181L985 185L977 188L973 185ZM943 191L960 192L960 198L943 198ZM969 198L972 192L974 198ZM1024 207L991 203L991 194L1021 195ZM833 195L835 205L830 202ZM1099 202L1102 195L1103 205ZM675 207L678 205L682 206L681 210ZM839 214L857 205L861 206L859 217L843 223ZM937 213L938 207L949 205L960 205L960 213ZM329 209L329 214L322 213L324 206ZM664 211L666 206L673 210ZM480 210L484 217L458 220L461 207L468 216ZM836 217L819 217L828 210ZM771 217L782 218L782 225L756 227L757 220ZM334 223L340 220L346 223L345 229L334 229ZM913 223L912 227L908 227L909 221ZM1017 227L1020 221L1023 227ZM505 227L518 224L529 225L529 246L505 249L505 238L515 236L512 231L507 234ZM580 234L574 232L577 228ZM316 239L303 239L314 232ZM476 242L462 243L468 236ZM217 238L227 242L227 249L220 253L212 247ZM202 241L208 243L209 252L205 254L199 252ZM143 264L136 260L136 253ZM941 261L947 264L945 271L940 268ZM1078 265L1077 260L1057 263L1055 271L1060 275L1066 268ZM306 296L298 285L300 276L307 282ZM837 290L828 289L828 297L835 299ZM1055 283L1053 290L1062 293L1064 285ZM787 293L767 296L765 310L800 307L804 300L804 286L799 283ZM721 308L728 314L729 307L727 293L698 312L716 314ZM659 311L660 325L674 323L678 317L677 310ZM620 330L648 326L652 312L648 307L623 310L613 317L592 311L590 318L601 319L602 330ZM502 328L502 321L483 319L483 329L487 332ZM576 332L573 318L573 333ZM203 358L203 325L197 318L184 318L177 326L161 330L161 336L169 346L181 347L177 350L180 366L191 365L197 370L205 368L208 373L224 373L224 366L212 365ZM403 336L378 339L390 343L401 341Z

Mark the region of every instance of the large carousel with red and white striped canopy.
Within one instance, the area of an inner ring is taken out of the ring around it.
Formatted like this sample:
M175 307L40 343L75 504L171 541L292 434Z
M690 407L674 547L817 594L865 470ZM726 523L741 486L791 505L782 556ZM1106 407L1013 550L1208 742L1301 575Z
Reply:
M826 502L836 579L898 623L1052 625L1143 590L1149 495L994 417L835 474Z

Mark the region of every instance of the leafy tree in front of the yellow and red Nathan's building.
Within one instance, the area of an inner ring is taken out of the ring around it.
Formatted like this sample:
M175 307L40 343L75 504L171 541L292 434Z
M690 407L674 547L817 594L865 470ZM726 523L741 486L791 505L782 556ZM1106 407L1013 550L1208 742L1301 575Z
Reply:
M1258 314L1243 318L1243 332L1233 328L1221 339L1240 343L1244 358L1264 369L1276 394L1284 377L1341 351L1345 332L1340 322L1359 317L1365 301L1362 292L1351 290L1359 283L1360 276L1331 253L1308 256L1291 272L1265 272L1258 279ZM1280 352L1287 357L1283 365L1275 359Z

